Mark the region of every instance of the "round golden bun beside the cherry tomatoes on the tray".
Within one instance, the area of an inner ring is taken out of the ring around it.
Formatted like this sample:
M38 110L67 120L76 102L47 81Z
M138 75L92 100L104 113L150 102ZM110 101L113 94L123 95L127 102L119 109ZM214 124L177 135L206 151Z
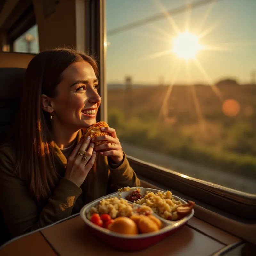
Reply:
M108 226L110 231L122 234L136 235L138 234L137 225L128 217L118 217Z

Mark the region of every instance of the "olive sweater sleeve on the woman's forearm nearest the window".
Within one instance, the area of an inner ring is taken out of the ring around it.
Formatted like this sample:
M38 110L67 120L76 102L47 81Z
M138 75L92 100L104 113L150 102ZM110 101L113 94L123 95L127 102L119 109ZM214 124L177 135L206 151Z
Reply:
M126 154L124 153L124 158L119 164L116 166L111 163L111 160L108 159L108 166L110 170L111 176L111 190L117 191L119 188L124 187L138 187L140 186L140 180L137 178L136 173L130 166Z

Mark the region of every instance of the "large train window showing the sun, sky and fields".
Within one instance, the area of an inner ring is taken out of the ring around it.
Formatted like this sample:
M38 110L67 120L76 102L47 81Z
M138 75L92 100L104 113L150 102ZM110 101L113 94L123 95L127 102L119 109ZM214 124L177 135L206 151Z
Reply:
M256 194L255 8L106 0L108 123L127 155Z

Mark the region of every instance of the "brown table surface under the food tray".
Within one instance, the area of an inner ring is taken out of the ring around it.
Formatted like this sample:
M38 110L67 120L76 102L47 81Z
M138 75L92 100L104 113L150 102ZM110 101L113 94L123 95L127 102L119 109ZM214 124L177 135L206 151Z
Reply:
M117 251L94 237L80 216L43 228L4 245L0 256L132 255L210 256L240 241L219 228L193 217L176 233L138 252Z

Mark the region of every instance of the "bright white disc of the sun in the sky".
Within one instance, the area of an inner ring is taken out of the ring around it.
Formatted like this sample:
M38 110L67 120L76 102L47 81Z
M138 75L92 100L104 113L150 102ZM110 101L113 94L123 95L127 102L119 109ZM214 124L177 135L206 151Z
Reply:
M172 52L183 59L194 59L196 53L202 49L199 38L190 32L180 33L173 40Z

